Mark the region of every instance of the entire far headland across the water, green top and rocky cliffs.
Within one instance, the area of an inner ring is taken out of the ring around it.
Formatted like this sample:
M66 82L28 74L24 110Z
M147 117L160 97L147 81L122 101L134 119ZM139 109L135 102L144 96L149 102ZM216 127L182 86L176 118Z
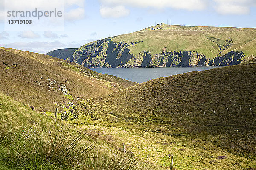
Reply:
M256 57L255 38L256 28L163 24L83 45L73 62L87 67L234 65ZM225 55L228 59L214 62Z

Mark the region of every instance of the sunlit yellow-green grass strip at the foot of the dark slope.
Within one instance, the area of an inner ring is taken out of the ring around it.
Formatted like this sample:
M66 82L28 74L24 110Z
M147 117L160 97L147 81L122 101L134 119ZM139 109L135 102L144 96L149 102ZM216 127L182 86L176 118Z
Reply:
M108 124L99 125L99 122L98 125L79 125L78 127L89 129L88 132L95 139L111 139L108 141L115 145L118 144L119 148L123 143L126 143L127 147L134 146L135 143L135 147L129 150L131 152L140 150L140 159L160 164L163 166L161 169L169 170L170 158L168 155L174 155L173 166L176 170L245 170L255 167L256 164L256 160L229 153L209 140L200 138L164 135L137 128L109 127ZM207 136L207 134L205 135ZM226 156L227 159L218 160L218 156ZM216 162L210 163L210 161ZM239 164L233 165L235 163Z

